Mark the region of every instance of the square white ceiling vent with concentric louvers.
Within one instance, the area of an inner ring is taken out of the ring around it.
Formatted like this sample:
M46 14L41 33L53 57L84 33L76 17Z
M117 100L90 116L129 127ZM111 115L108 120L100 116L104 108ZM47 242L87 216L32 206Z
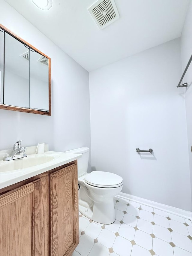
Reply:
M91 5L88 11L100 29L104 29L119 19L119 12L114 0L99 0Z

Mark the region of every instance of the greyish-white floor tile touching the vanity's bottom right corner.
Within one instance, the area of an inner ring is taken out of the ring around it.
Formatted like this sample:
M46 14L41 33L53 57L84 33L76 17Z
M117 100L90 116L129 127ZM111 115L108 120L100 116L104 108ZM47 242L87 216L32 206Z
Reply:
M79 239L79 244L76 247L76 251L82 256L87 256L94 245L94 241L91 237L87 235L82 235Z

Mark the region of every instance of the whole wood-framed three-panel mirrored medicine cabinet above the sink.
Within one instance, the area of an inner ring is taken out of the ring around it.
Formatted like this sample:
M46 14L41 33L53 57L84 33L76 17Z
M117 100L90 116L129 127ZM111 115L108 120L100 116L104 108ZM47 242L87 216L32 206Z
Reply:
M0 24L0 108L51 116L50 61Z

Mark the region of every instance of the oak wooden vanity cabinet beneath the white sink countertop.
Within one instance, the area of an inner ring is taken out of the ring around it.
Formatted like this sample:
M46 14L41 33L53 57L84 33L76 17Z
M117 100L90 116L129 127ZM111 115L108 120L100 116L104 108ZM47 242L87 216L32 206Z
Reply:
M70 256L79 243L77 187L73 161L0 189L0 256Z

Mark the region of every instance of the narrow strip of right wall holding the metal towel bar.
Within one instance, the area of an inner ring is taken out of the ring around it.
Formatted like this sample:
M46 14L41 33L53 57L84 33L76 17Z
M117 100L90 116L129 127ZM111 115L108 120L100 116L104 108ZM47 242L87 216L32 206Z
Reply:
M183 71L187 65L187 62L192 54L192 2L190 2L186 20L184 23L182 36L181 36L181 51L182 51L182 67ZM190 64L187 73L183 79L183 83L188 83L188 87L184 90L185 93L185 107L186 107L186 119L187 119L187 137L188 137L188 154L189 154L189 166L190 166L190 183L192 188L192 63Z

